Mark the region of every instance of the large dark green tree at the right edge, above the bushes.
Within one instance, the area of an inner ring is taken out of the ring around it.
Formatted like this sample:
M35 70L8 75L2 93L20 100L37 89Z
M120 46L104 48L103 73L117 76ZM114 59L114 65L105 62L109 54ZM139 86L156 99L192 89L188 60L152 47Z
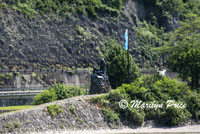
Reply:
M190 15L181 25L169 42L168 66L188 80L192 88L197 88L200 86L200 18Z

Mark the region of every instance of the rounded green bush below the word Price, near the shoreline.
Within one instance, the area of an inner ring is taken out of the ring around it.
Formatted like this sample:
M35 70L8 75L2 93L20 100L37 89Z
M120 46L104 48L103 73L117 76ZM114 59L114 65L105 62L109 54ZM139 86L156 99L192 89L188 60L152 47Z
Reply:
M188 122L191 114L186 109L169 107L161 114L160 122L168 126L183 125Z

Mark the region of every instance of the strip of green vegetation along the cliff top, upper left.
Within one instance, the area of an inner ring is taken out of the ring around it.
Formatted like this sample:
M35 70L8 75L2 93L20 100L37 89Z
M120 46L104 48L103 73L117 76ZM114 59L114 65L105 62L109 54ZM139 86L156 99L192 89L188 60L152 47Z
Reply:
M11 6L28 16L44 13L58 15L85 14L90 17L102 15L118 16L123 0L13 0L1 2L1 8Z

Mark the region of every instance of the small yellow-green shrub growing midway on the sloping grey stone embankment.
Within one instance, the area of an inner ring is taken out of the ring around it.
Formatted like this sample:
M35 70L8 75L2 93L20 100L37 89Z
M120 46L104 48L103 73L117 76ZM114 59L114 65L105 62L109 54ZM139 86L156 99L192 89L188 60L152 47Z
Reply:
M47 106L47 111L52 117L55 117L63 112L60 106L56 104Z

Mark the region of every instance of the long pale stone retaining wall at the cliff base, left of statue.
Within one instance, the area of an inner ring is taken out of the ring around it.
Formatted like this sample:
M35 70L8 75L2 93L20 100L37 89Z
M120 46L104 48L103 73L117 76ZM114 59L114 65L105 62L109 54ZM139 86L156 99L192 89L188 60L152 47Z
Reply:
M8 88L25 88L25 89L38 89L44 86L52 86L55 83L63 83L65 85L73 86L84 86L87 87L90 83L90 70L40 70L40 71L26 71L23 72L1 72L1 73L11 73L12 76L4 79L5 84L0 85L0 91ZM2 81L2 80L1 80Z

